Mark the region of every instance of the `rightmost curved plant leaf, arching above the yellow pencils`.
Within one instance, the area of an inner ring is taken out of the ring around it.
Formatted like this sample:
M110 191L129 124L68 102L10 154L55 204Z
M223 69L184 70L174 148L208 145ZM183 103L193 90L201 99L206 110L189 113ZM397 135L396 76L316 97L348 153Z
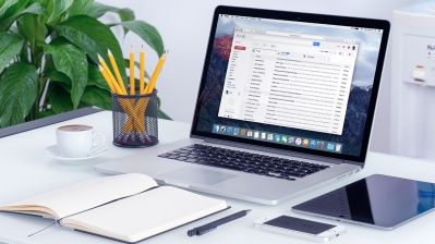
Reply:
M153 25L144 22L144 21L128 21L122 22L121 25L136 35L138 35L145 42L152 47L157 54L160 57L165 52L164 40Z

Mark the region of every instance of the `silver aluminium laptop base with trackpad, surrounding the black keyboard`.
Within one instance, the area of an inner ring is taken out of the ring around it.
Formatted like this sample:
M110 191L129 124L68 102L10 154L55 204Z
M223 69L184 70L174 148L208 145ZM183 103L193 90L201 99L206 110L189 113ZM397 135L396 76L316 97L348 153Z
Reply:
M97 171L118 173L144 173L157 180L160 184L176 185L197 192L210 193L265 205L277 205L295 194L309 191L312 186L321 186L350 175L361 170L360 166L334 161L318 161L306 158L309 162L331 166L329 169L314 173L297 181L287 181L215 167L194 164L157 157L158 155L192 144L206 144L223 148L238 148L243 151L263 154L282 158L295 158L290 154L267 152L265 148L255 148L228 142L207 142L206 139L188 138L170 145L158 145L122 159L96 166ZM220 144L221 143L221 144ZM250 149L247 149L250 148ZM262 151L263 149L263 151Z

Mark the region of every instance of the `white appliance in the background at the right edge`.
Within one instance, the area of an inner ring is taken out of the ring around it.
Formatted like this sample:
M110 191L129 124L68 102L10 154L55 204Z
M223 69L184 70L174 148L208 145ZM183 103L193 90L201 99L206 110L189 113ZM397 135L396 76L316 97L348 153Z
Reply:
M391 152L435 159L435 1L394 11Z

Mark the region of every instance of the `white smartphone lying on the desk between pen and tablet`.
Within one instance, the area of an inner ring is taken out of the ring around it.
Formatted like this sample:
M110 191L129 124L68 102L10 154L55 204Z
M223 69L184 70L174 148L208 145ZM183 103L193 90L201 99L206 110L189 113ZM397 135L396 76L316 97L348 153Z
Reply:
M317 242L330 242L346 231L343 227L299 219L286 215L277 218L258 219L254 225L270 232Z

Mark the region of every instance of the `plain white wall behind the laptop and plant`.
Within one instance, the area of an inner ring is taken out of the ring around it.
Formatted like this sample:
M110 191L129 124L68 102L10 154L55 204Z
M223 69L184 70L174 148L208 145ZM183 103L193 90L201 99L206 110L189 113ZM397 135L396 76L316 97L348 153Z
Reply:
M241 5L300 12L317 12L390 20L394 9L413 4L418 0L99 0L102 3L128 7L136 19L155 25L165 39L169 57L157 85L162 98L162 109L174 120L192 121L196 93L209 35L213 11L216 5ZM142 41L130 35L123 49L138 49ZM148 70L156 56L149 57ZM386 62L378 107L371 139L376 151L389 150L389 61Z

